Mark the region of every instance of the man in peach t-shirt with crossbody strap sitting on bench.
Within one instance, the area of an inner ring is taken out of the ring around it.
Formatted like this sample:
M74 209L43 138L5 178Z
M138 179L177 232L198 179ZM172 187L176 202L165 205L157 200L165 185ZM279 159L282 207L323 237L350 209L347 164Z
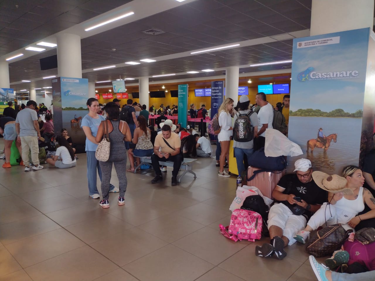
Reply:
M160 151L159 151L159 148ZM157 135L154 142L154 154L151 156L152 167L155 171L155 178L152 179L151 183L162 181L162 172L160 171L159 161L172 161L172 185L177 185L177 174L180 170L181 163L183 160L180 154L181 139L178 135L171 131L171 127L168 125L162 126L162 133Z

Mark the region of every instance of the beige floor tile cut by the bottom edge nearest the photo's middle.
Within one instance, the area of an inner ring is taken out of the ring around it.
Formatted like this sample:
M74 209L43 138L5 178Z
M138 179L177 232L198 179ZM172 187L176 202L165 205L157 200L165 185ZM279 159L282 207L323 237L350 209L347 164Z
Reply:
M192 281L213 267L192 254L167 245L123 268L142 281Z

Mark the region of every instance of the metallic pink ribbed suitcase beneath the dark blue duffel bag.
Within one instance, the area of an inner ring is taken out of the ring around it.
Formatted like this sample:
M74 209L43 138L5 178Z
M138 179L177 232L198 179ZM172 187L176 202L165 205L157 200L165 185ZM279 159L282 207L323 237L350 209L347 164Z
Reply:
M248 167L248 179L251 178L251 176L254 174L254 171L256 170L261 169L252 166ZM254 179L248 181L246 185L257 187L264 196L273 199L272 191L275 189L279 180L282 176L285 175L286 172L286 170L274 172L260 172L255 176Z

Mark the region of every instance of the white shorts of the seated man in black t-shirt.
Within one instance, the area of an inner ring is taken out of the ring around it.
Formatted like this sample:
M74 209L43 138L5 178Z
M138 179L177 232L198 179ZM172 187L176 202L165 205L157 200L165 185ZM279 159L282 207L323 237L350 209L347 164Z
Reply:
M292 211L283 203L273 205L268 214L268 228L278 226L282 229L283 235L289 239L288 245L293 245L293 239L306 226L306 218L303 215L293 215Z

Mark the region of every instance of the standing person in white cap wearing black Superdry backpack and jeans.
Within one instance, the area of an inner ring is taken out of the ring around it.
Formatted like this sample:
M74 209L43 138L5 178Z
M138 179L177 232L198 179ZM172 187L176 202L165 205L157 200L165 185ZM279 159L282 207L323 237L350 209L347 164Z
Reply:
M258 115L250 110L248 96L241 96L237 104L238 113L234 116L233 148L236 155L238 174L247 168L243 163L244 155L250 158L254 153L254 135L258 132Z

